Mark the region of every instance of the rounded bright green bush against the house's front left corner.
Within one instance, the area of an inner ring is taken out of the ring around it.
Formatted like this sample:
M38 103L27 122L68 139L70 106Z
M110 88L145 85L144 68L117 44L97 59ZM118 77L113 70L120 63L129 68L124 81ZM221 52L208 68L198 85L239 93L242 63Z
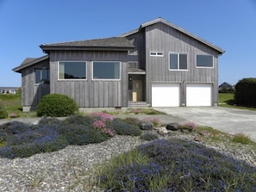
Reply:
M38 105L37 116L69 116L78 112L78 104L69 96L48 94L41 99Z

